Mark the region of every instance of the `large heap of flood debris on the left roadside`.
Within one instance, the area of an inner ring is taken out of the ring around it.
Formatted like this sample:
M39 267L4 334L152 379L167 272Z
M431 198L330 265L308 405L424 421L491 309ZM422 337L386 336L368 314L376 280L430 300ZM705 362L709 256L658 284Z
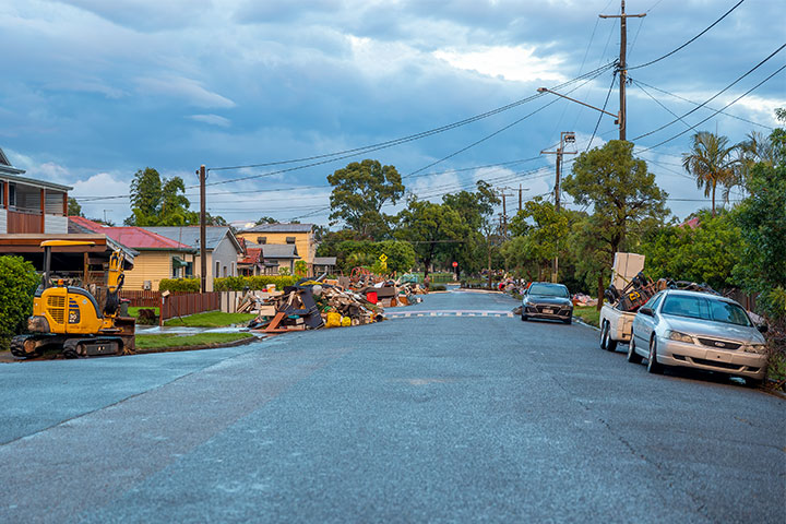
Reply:
M257 313L248 326L263 333L346 327L381 322L384 308L419 302L424 293L418 284L373 277L302 278L283 291L247 290L237 311Z

